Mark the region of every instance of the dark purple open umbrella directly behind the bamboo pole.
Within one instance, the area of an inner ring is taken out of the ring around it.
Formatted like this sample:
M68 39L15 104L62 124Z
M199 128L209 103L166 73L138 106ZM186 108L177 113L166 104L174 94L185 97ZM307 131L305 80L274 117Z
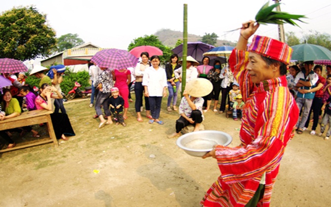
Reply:
M203 54L208 50L214 48L214 46L203 43L203 42L187 42L187 56L192 56L197 61L202 61ZM178 45L177 47L171 50L173 53L176 53L179 57L183 56L183 44Z

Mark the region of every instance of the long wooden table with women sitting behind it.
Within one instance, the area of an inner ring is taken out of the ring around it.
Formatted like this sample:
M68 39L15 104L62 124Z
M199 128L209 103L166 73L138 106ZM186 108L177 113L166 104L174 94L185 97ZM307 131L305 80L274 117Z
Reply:
M40 123L46 123L47 128L48 128L48 134L49 134L48 140L43 140L43 141L31 143L31 144L16 146L16 147L13 147L10 149L3 149L3 150L0 150L0 153L11 151L11 150L16 150L16 149L22 149L22 148L26 148L26 147L31 147L31 146L36 146L36 145L40 145L40 144L50 143L50 142L54 142L54 145L58 146L58 142L57 142L57 139L56 139L56 136L54 133L54 129L53 129L52 120L50 118L51 113L53 113L53 111L44 110L44 109L33 110L33 111L23 112L21 115L16 116L14 118L5 119L5 120L0 121L0 131L13 129L13 128L17 128L17 127L25 127L25 126L30 126L30 125L40 124Z

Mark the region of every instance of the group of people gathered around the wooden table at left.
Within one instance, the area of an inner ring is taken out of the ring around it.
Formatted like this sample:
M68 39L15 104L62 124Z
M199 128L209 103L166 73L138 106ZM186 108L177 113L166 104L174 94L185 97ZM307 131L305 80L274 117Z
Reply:
M48 69L38 66L30 72L30 75L40 78L39 93L33 87L25 85L26 76L24 73L19 73L18 77L15 74L3 74L11 81L12 85L2 89L0 120L17 117L24 109L28 111L53 110L54 113L50 117L55 136L57 139L68 140L66 136L75 136L75 132L66 114L60 88L65 66L52 66L47 74L44 74L46 70ZM61 113L59 113L59 110L61 110ZM40 126L43 126L43 124L41 123ZM16 146L11 138L13 132L20 133L20 136L23 136L26 132L32 132L33 137L40 137L39 132L34 130L32 126L1 131L0 137L8 142L7 149Z

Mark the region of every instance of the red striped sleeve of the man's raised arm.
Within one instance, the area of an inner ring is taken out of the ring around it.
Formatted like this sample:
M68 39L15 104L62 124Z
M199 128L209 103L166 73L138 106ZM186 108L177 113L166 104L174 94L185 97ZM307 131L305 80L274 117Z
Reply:
M233 72L233 75L240 85L242 91L243 100L246 103L249 95L254 90L254 85L248 75L246 67L248 65L248 52L244 50L234 49L229 58L229 66Z

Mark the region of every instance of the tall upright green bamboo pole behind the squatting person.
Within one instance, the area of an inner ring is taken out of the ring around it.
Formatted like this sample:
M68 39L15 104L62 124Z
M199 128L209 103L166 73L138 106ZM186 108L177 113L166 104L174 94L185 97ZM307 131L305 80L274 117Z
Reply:
M187 4L184 3L184 27L183 27L183 62L182 62L182 90L181 96L186 85L186 57L187 57Z

